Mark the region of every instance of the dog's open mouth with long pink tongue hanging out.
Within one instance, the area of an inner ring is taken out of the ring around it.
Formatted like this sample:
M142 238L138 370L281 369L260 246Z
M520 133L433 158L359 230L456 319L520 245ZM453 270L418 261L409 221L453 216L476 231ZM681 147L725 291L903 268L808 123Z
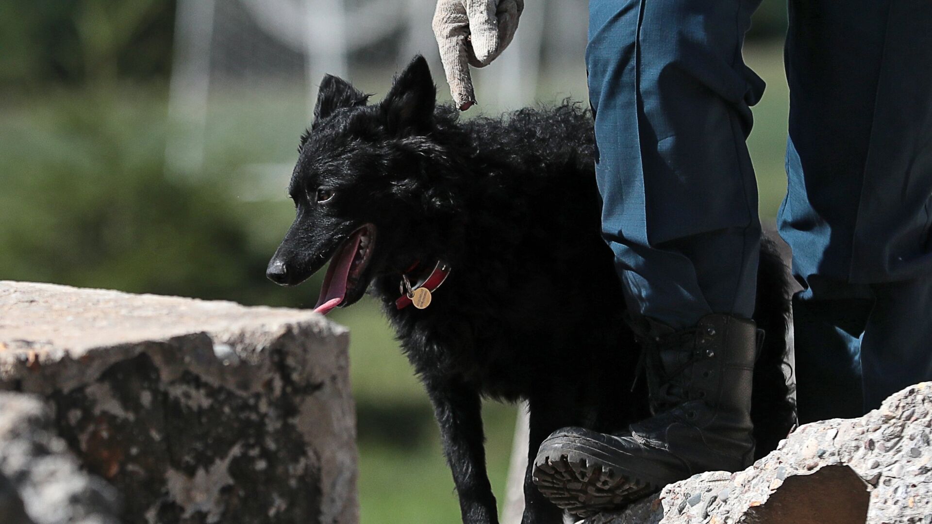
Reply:
M366 224L349 235L330 260L330 267L323 277L321 296L314 310L326 314L336 306L348 305L362 295L366 285L361 279L369 265L376 241L376 228ZM347 301L347 296L350 300Z

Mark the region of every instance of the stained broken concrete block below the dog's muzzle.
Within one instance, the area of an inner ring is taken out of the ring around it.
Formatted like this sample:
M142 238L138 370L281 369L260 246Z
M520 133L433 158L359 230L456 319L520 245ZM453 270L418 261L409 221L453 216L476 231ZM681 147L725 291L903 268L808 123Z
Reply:
M0 389L47 399L124 522L356 522L348 340L310 311L0 282Z

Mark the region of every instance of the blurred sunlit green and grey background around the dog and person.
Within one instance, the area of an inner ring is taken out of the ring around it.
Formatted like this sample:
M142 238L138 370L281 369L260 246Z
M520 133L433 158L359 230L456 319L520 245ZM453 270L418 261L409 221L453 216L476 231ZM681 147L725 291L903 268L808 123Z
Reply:
M786 188L786 6L766 0L747 62L768 84L751 134L761 216ZM0 2L0 279L307 308L268 257L324 73L378 98L415 53L440 72L431 0ZM514 44L479 71L475 114L586 101L584 2L528 0ZM443 78L440 98L449 100ZM459 521L432 410L375 304L351 329L363 523ZM491 404L488 469L504 499L514 407Z

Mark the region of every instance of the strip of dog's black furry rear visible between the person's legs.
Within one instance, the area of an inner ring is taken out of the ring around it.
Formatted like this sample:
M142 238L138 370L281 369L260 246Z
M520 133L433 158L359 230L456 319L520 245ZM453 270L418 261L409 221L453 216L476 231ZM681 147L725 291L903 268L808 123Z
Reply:
M785 373L792 343L791 282L776 244L764 236L754 310L754 320L765 333L754 366L751 394L751 420L757 441L755 460L773 451L796 425L796 403Z

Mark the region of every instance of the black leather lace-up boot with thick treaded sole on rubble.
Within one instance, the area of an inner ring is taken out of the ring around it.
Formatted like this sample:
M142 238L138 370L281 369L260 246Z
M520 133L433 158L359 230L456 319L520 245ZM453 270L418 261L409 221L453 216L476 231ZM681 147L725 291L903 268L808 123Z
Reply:
M534 461L538 489L571 513L589 517L697 473L739 471L754 457L754 322L710 314L682 331L647 322L638 338L653 416L620 434L558 430Z

